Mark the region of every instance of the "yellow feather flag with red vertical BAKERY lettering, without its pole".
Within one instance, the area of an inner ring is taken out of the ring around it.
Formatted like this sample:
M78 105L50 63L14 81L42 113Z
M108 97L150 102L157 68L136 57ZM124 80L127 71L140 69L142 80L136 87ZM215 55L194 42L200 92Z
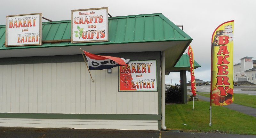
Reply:
M233 103L233 29L234 20L225 22L212 34L210 105Z

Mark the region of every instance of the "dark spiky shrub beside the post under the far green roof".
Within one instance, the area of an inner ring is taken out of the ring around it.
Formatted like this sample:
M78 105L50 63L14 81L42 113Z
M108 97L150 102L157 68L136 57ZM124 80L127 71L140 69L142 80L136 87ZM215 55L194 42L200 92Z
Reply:
M181 103L180 85L170 86L165 89L165 103Z

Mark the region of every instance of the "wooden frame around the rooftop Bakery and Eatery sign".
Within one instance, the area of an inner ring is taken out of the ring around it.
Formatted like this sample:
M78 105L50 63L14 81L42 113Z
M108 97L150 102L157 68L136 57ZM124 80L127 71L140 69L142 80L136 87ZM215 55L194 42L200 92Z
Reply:
M8 18L15 16L25 16L25 15L37 15L39 14L39 43L38 44L21 44L21 45L8 45ZM42 13L29 13L29 14L18 14L18 15L7 15L5 18L5 47L12 46L28 46L28 45L42 45Z

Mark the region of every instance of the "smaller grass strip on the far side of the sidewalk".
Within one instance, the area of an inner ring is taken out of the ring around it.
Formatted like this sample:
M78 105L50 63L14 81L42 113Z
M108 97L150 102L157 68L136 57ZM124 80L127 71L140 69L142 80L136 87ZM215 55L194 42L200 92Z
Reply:
M210 93L199 94L199 95L210 97ZM256 108L256 96L255 95L247 95L247 94L234 94L234 102L233 103Z

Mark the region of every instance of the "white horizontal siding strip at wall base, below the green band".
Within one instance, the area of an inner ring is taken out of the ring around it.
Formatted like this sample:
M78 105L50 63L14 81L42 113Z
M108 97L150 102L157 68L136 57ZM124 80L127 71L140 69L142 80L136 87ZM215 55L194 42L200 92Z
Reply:
M86 129L158 130L157 120L80 120L80 119L12 119L0 118L1 127L46 127Z

